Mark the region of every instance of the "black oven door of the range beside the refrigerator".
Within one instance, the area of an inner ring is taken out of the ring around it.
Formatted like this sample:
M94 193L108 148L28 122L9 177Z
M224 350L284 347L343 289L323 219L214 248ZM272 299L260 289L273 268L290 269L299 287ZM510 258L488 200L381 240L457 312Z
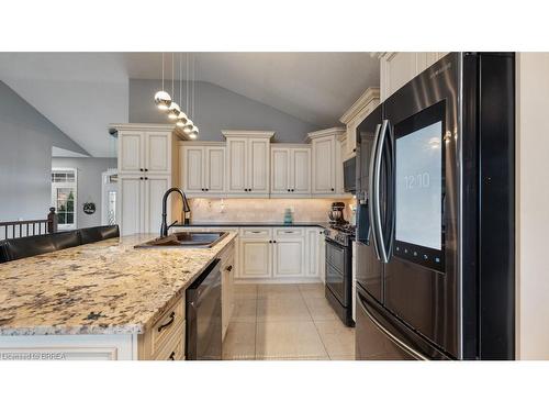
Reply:
M326 240L326 287L347 308L350 303L348 248Z

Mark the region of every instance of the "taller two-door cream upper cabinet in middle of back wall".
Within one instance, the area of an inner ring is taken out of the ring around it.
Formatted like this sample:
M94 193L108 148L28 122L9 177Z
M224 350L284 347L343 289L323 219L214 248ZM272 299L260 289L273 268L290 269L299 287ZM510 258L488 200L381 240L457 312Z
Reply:
M268 197L270 190L270 140L274 132L222 131L226 144L228 194Z

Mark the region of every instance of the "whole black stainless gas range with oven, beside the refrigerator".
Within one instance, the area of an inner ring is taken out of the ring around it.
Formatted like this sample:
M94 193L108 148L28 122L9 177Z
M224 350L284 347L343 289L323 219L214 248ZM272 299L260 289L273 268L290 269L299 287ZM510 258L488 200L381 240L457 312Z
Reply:
M352 321L352 241L355 226L349 224L330 225L326 235L326 299L347 326Z

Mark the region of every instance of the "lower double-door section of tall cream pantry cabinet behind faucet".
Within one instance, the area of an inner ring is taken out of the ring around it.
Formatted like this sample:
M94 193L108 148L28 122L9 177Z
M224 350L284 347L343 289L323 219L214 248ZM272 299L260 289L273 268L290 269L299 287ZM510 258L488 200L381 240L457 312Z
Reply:
M120 208L117 222L122 235L158 232L161 224L161 199L171 186L170 176L119 177ZM168 204L168 215L171 207Z

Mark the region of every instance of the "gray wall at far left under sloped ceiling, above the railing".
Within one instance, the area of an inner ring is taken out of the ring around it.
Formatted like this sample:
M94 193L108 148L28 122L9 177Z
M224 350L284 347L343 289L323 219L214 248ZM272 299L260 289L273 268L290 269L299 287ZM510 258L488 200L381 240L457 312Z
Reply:
M87 155L0 81L0 221L46 218L54 145Z

